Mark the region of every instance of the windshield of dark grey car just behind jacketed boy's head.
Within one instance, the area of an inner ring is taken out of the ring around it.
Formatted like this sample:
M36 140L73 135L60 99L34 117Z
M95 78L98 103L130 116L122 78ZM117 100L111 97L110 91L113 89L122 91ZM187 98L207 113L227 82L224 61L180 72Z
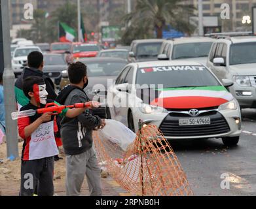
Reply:
M99 62L86 63L88 67L88 76L117 76L126 65L126 62Z

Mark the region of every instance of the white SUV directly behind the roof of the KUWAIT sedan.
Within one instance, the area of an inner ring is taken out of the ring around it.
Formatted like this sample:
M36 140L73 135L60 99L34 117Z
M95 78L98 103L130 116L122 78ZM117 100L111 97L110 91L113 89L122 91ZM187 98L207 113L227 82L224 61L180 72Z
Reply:
M211 44L214 39L209 37L183 37L165 40L160 48L159 60L197 61L206 64Z

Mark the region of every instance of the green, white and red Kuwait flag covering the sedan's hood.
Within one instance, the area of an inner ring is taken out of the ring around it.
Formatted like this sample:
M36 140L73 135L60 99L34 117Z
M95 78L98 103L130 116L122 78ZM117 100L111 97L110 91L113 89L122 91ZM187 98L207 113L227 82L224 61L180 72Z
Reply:
M234 99L223 86L169 88L158 91L159 97L151 101L150 105L170 109L208 108L223 105Z

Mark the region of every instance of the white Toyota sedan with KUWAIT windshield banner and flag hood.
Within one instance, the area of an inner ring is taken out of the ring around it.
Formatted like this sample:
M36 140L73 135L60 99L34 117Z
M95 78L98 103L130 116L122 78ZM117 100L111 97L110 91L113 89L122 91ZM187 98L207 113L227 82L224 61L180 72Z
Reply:
M130 63L108 89L107 110L132 131L156 125L167 139L222 138L238 144L240 106L210 70L192 61Z

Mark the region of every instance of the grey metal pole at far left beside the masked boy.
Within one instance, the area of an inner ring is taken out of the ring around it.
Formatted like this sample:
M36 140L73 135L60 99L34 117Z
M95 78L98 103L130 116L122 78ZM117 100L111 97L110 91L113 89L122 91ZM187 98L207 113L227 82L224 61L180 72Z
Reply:
M3 72L3 88L5 94L5 124L7 137L7 157L15 159L18 157L18 131L17 122L10 118L11 113L16 111L14 96L14 72L10 59L10 20L9 1L1 0L1 19L3 28L3 52L5 70Z

